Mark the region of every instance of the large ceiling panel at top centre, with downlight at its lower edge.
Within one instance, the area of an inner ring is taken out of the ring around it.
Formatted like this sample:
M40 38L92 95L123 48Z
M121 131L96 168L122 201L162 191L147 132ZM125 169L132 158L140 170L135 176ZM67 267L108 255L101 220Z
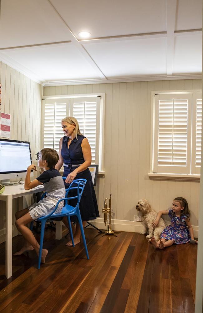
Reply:
M52 0L52 3L77 38L83 30L91 33L90 38L166 31L166 0Z

